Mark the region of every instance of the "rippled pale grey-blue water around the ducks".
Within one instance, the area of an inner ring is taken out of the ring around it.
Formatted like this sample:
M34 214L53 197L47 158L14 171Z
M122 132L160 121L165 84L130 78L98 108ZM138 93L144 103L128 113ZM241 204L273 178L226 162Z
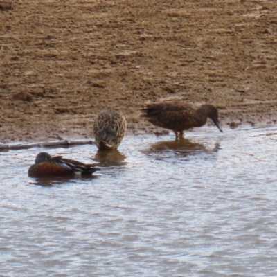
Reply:
M277 127L0 152L0 276L277 276ZM93 178L27 176L38 152Z

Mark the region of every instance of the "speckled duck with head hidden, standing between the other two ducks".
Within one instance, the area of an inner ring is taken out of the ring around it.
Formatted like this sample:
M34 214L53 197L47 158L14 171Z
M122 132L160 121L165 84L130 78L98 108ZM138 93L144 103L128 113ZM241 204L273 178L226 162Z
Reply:
M95 143L99 150L118 148L125 136L127 123L123 114L114 109L100 112L93 125Z

